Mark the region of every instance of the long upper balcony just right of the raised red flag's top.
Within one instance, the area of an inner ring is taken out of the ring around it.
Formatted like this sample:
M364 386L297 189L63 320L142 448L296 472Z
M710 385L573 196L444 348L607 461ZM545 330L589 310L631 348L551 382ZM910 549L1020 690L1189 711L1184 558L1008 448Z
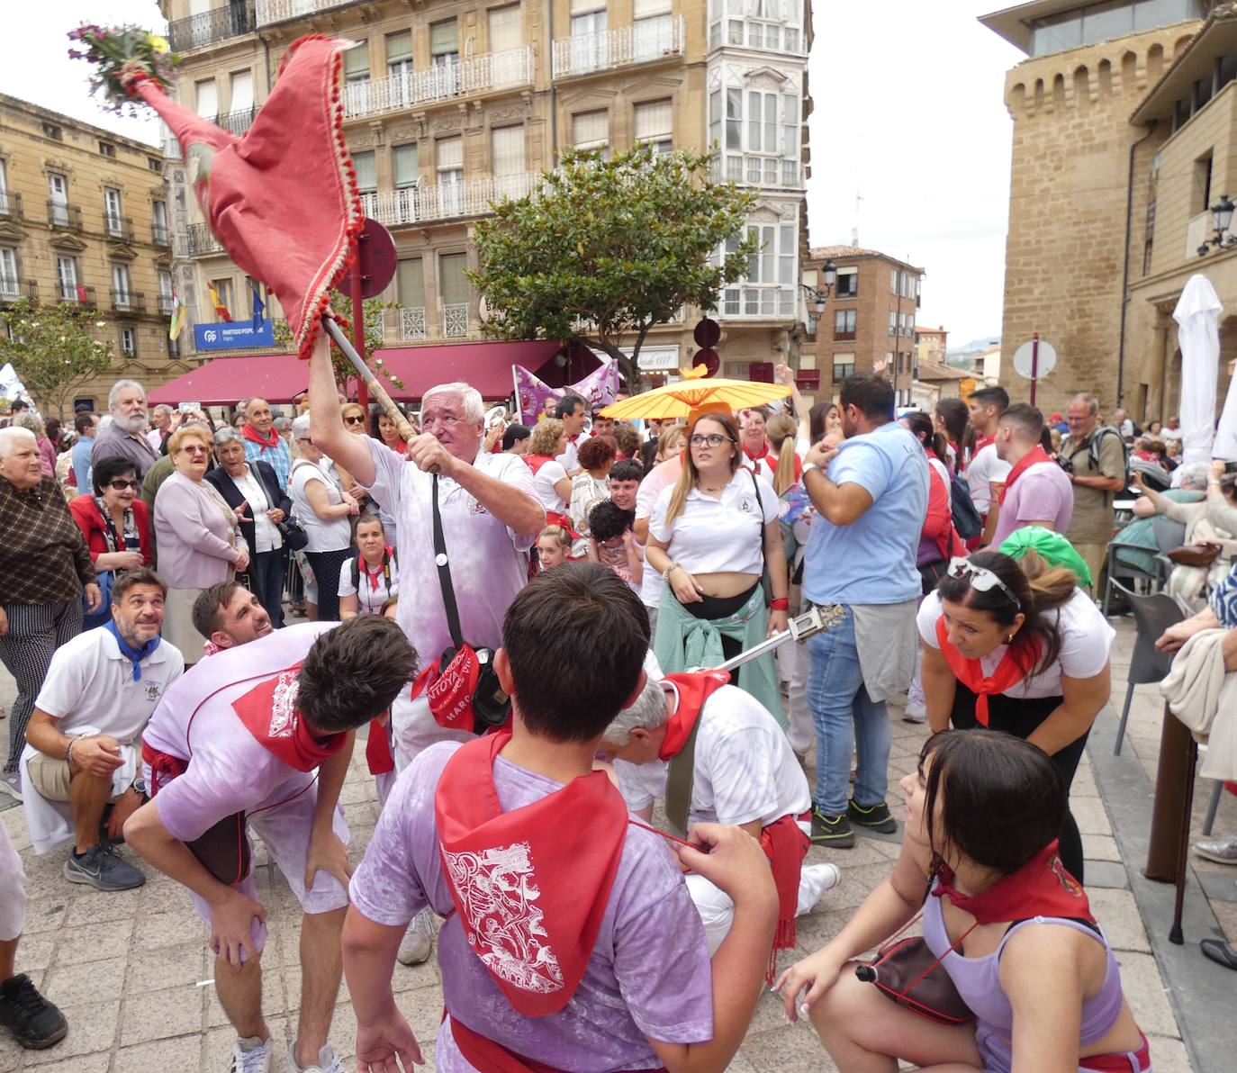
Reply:
M487 52L471 59L428 67L424 70L388 74L372 82L344 87L344 116L356 119L383 111L447 100L468 93L482 93L533 80L533 51L528 46Z

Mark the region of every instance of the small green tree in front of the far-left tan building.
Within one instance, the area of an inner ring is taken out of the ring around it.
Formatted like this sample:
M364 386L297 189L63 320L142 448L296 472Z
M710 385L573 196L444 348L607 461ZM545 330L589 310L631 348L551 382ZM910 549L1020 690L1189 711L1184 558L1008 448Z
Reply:
M90 336L92 328L103 326L94 316L77 305L41 305L32 298L0 309L0 323L7 329L7 337L0 337L0 365L12 363L45 417L52 409L57 417L68 417L66 402L111 365L111 344Z

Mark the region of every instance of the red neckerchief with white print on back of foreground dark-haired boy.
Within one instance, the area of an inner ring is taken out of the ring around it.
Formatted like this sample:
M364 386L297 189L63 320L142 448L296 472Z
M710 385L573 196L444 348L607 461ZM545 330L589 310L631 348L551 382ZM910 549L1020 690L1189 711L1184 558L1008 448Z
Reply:
M494 761L510 732L474 738L434 792L443 876L464 935L517 1014L562 1010L589 964L627 836L602 771L503 812ZM564 816L583 822L564 823Z

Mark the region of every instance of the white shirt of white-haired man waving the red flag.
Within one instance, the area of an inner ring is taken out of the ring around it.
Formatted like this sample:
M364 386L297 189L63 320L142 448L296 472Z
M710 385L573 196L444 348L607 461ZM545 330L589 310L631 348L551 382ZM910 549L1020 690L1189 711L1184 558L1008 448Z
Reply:
M375 439L366 438L374 459L374 483L366 491L396 519L397 551L403 564L398 623L423 665L449 644L443 591L434 564L433 480ZM481 451L473 465L537 502L533 473L518 455ZM438 478L443 536L450 556L452 585L464 640L500 648L502 617L528 580L524 554L537 539L503 525L450 477ZM544 527L538 525L538 532Z

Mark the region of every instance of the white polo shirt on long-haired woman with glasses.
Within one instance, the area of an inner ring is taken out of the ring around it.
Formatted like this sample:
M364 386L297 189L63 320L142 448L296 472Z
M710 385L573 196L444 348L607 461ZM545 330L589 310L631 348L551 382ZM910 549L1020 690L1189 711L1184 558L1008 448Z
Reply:
M649 534L667 545L670 559L689 574L764 571L764 527L778 515L777 493L768 481L740 466L720 499L693 488L683 513L667 524L673 494L673 487L662 490L648 523Z

